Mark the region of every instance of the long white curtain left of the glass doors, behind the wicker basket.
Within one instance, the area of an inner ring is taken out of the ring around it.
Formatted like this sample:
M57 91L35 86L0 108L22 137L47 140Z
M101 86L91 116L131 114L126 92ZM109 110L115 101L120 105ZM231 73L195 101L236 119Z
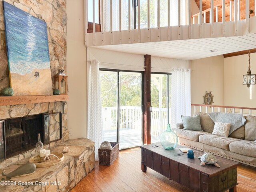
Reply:
M95 160L98 160L98 148L103 141L102 104L100 94L99 62L92 60L88 73L88 119L87 138L95 142Z

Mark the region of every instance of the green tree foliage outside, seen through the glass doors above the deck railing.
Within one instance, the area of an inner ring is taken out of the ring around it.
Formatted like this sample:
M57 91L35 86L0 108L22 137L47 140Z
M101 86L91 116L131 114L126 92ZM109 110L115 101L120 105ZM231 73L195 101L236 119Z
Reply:
M128 74L120 72L120 106L141 106L142 82L141 76L137 74ZM160 76L162 76L162 86ZM162 88L162 108L167 106L167 75L154 74L154 80L151 78L151 105L159 107L159 91ZM170 78L169 78L170 80ZM101 72L101 95L102 107L117 107L117 72ZM169 90L170 91L170 90Z

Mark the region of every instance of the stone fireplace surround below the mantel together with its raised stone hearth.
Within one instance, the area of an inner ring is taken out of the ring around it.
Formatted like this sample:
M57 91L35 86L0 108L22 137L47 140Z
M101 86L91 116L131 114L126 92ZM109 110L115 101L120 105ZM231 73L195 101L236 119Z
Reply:
M36 96L35 96L36 97ZM54 97L54 96L52 96ZM42 114L46 113L54 113L61 112L61 124L62 126L62 136L60 140L55 140L56 135L54 136L53 142L48 142L45 138L41 141L45 142L44 148L50 149L54 152L63 152L64 146L68 146L70 148L70 152L64 153L64 160L59 164L54 166L44 167L44 168L36 168L36 173L28 176L21 176L17 178L11 178L10 181L13 182L24 182L30 183L33 185L16 185L16 186L0 186L0 191L12 191L12 192L26 192L26 191L69 191L72 189L82 178L84 178L89 172L94 168L94 142L86 139L80 138L75 140L70 140L68 138L68 130L67 130L67 110L68 106L66 101L62 102L45 102L45 103L37 103L37 104L18 104L18 105L7 105L0 106L0 127L4 126L4 123L10 124L7 128L7 132L0 131L0 149L2 146L2 139L5 136L8 136L10 132L12 132L12 138L17 136L16 143L20 142L24 143L26 138L21 138L20 135L23 135L24 131L27 131L24 127L20 130L17 130L18 126L23 126L22 124L26 124L26 122L30 122L32 127L41 126L41 130L39 128L34 129L29 135L36 134L38 132L44 134L45 127L40 122L50 122L48 119L44 121L44 118L47 116L43 116ZM5 121L1 121L5 119ZM7 120L6 120L7 119ZM11 122L11 123L10 123ZM49 137L52 132L49 132ZM2 138L2 139L1 139ZM57 136L58 138L58 136ZM32 138L31 138L32 139ZM5 140L5 142L12 143L10 140ZM34 142L37 142L34 141ZM2 158L6 155L6 159L0 162L0 169L5 170L6 173L9 173L22 164L28 162L31 156L35 155L35 144L34 142L26 142L28 146L26 147L16 145L16 150L12 155L2 154ZM31 147L31 148L30 148ZM21 149L20 149L21 148ZM8 149L8 148L7 148ZM18 153L18 151L22 150L22 153ZM14 155L14 156L13 156ZM1 153L0 153L1 157ZM60 181L60 182L59 182ZM48 182L49 184L44 185L36 185L38 182ZM61 183L60 185L51 185L51 183Z

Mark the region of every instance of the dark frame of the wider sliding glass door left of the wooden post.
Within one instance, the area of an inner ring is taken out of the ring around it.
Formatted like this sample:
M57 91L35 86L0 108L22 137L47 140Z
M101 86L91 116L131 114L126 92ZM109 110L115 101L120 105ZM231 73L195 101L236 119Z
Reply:
M133 71L133 70L119 70L119 69L108 69L108 68L100 68L100 71L109 71L109 72L117 72L117 110L118 110L118 118L117 118L117 128L116 128L116 142L120 142L120 124L119 124L119 119L120 119L120 110L121 110L121 106L120 106L120 81L119 81L119 72L134 72L134 73L140 73L141 74L141 112L142 112L142 118L143 118L143 113L144 113L144 96L143 96L143 92L144 92L144 78L143 78L143 73L144 71ZM141 119L141 135L142 135L142 145L144 145L144 129L143 129L143 119ZM133 146L136 147L136 146ZM133 148L131 147L131 148Z

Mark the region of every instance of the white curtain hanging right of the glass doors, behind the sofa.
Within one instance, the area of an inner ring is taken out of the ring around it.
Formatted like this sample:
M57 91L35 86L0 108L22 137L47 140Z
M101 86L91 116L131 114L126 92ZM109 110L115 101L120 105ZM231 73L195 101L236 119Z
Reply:
M171 84L171 125L176 127L181 115L191 116L190 69L174 69Z

